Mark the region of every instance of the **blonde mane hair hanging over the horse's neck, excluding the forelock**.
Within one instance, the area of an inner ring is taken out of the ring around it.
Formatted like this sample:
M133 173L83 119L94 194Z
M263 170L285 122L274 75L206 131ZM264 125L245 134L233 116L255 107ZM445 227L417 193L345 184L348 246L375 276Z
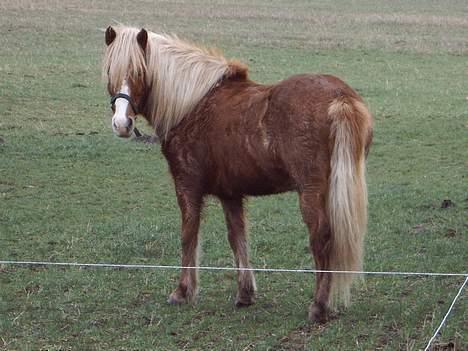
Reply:
M147 110L152 125L162 136L190 114L229 71L229 65L223 56L178 39L155 38L155 51L149 57L153 71Z

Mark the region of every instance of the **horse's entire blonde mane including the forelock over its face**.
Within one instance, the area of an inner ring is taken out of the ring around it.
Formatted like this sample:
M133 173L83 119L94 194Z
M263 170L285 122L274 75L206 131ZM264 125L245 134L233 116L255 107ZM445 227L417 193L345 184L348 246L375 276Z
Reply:
M115 30L117 36L107 49L103 73L108 74L114 85L121 84L126 75L145 72L150 89L146 117L162 138L223 76L247 75L245 66L228 61L220 52L171 35L148 32L146 57L143 57L136 40L138 29L116 27Z

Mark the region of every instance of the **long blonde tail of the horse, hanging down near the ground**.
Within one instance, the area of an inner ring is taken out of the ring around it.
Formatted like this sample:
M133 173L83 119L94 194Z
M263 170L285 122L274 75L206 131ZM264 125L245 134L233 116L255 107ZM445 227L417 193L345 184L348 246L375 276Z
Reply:
M336 98L328 109L332 148L328 218L332 245L330 269L362 271L363 241L367 227L365 154L372 137L372 117L353 98ZM332 275L331 304L350 300L356 274Z

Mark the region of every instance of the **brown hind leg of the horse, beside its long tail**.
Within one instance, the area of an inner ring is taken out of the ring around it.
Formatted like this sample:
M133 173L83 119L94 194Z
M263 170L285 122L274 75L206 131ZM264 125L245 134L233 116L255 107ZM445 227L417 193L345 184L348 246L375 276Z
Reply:
M307 190L301 192L300 205L309 230L310 248L318 270L329 269L330 225L325 210L324 195ZM314 302L309 308L309 319L323 323L328 319L331 274L316 273Z

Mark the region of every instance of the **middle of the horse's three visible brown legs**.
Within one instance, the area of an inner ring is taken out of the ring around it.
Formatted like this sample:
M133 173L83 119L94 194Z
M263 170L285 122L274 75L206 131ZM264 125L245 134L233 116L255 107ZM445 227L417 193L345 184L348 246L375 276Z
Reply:
M222 201L228 227L228 239L234 253L237 268L250 268L247 234L245 229L242 199ZM252 271L239 270L237 273L238 292L236 306L247 306L255 302L255 278Z

